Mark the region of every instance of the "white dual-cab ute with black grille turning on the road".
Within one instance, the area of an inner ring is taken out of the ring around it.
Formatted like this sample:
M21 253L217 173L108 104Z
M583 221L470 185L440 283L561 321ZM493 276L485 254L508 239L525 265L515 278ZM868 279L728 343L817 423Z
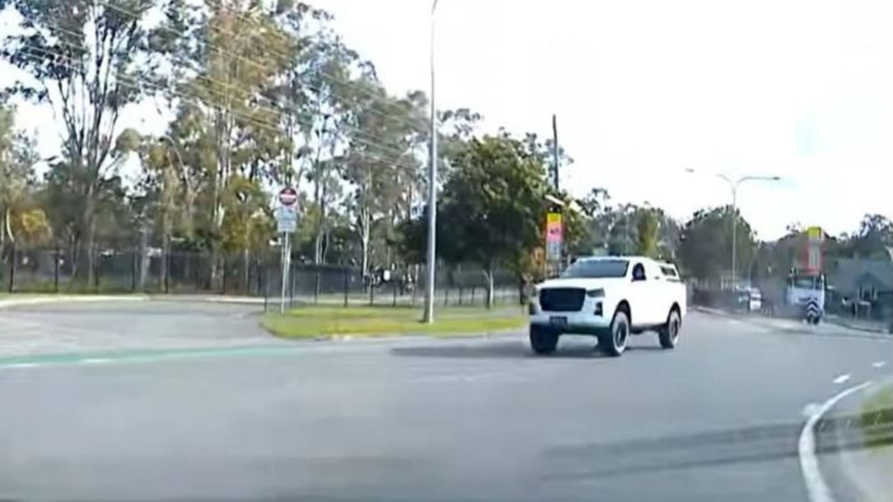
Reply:
M661 347L679 341L686 288L673 264L641 256L580 258L530 298L530 347L551 354L563 334L591 335L610 356L630 334L657 332Z

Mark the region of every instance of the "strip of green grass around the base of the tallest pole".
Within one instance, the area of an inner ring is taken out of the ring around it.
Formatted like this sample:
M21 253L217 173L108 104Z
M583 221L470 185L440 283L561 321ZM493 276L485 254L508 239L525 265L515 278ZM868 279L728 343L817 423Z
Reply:
M527 316L519 307L484 310L447 307L435 310L435 321L421 322L421 308L305 306L285 315L269 314L261 326L286 339L331 338L335 335L478 335L522 328Z

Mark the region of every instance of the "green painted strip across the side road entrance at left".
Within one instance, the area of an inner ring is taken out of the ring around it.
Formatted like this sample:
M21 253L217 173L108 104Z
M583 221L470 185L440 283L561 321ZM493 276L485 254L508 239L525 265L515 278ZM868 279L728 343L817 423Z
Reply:
M212 348L134 349L110 352L39 354L29 356L0 356L0 369L5 367L33 367L49 365L151 363L165 359L186 359L226 356L273 356L293 354L304 347L264 345Z

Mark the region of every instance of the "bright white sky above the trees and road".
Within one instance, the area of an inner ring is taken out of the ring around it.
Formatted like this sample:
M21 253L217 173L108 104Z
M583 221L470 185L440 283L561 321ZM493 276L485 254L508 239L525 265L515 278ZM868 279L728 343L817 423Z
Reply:
M430 2L313 4L393 93L428 90ZM761 238L893 217L890 0L439 0L436 51L441 108L543 135L557 114L576 160L562 183L577 195L607 188L685 218L730 201L715 173L777 175L739 188ZM146 106L122 125L156 117ZM51 119L20 121L41 128L47 155Z

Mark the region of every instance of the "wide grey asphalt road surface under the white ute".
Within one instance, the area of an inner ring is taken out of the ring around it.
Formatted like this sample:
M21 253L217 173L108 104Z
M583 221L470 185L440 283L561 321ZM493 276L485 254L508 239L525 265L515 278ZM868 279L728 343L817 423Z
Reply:
M271 344L231 305L77 308L0 324L248 348L0 356L0 499L806 500L805 406L891 368L889 340L703 314L676 350L646 334L605 358L585 338L551 357L522 336Z

